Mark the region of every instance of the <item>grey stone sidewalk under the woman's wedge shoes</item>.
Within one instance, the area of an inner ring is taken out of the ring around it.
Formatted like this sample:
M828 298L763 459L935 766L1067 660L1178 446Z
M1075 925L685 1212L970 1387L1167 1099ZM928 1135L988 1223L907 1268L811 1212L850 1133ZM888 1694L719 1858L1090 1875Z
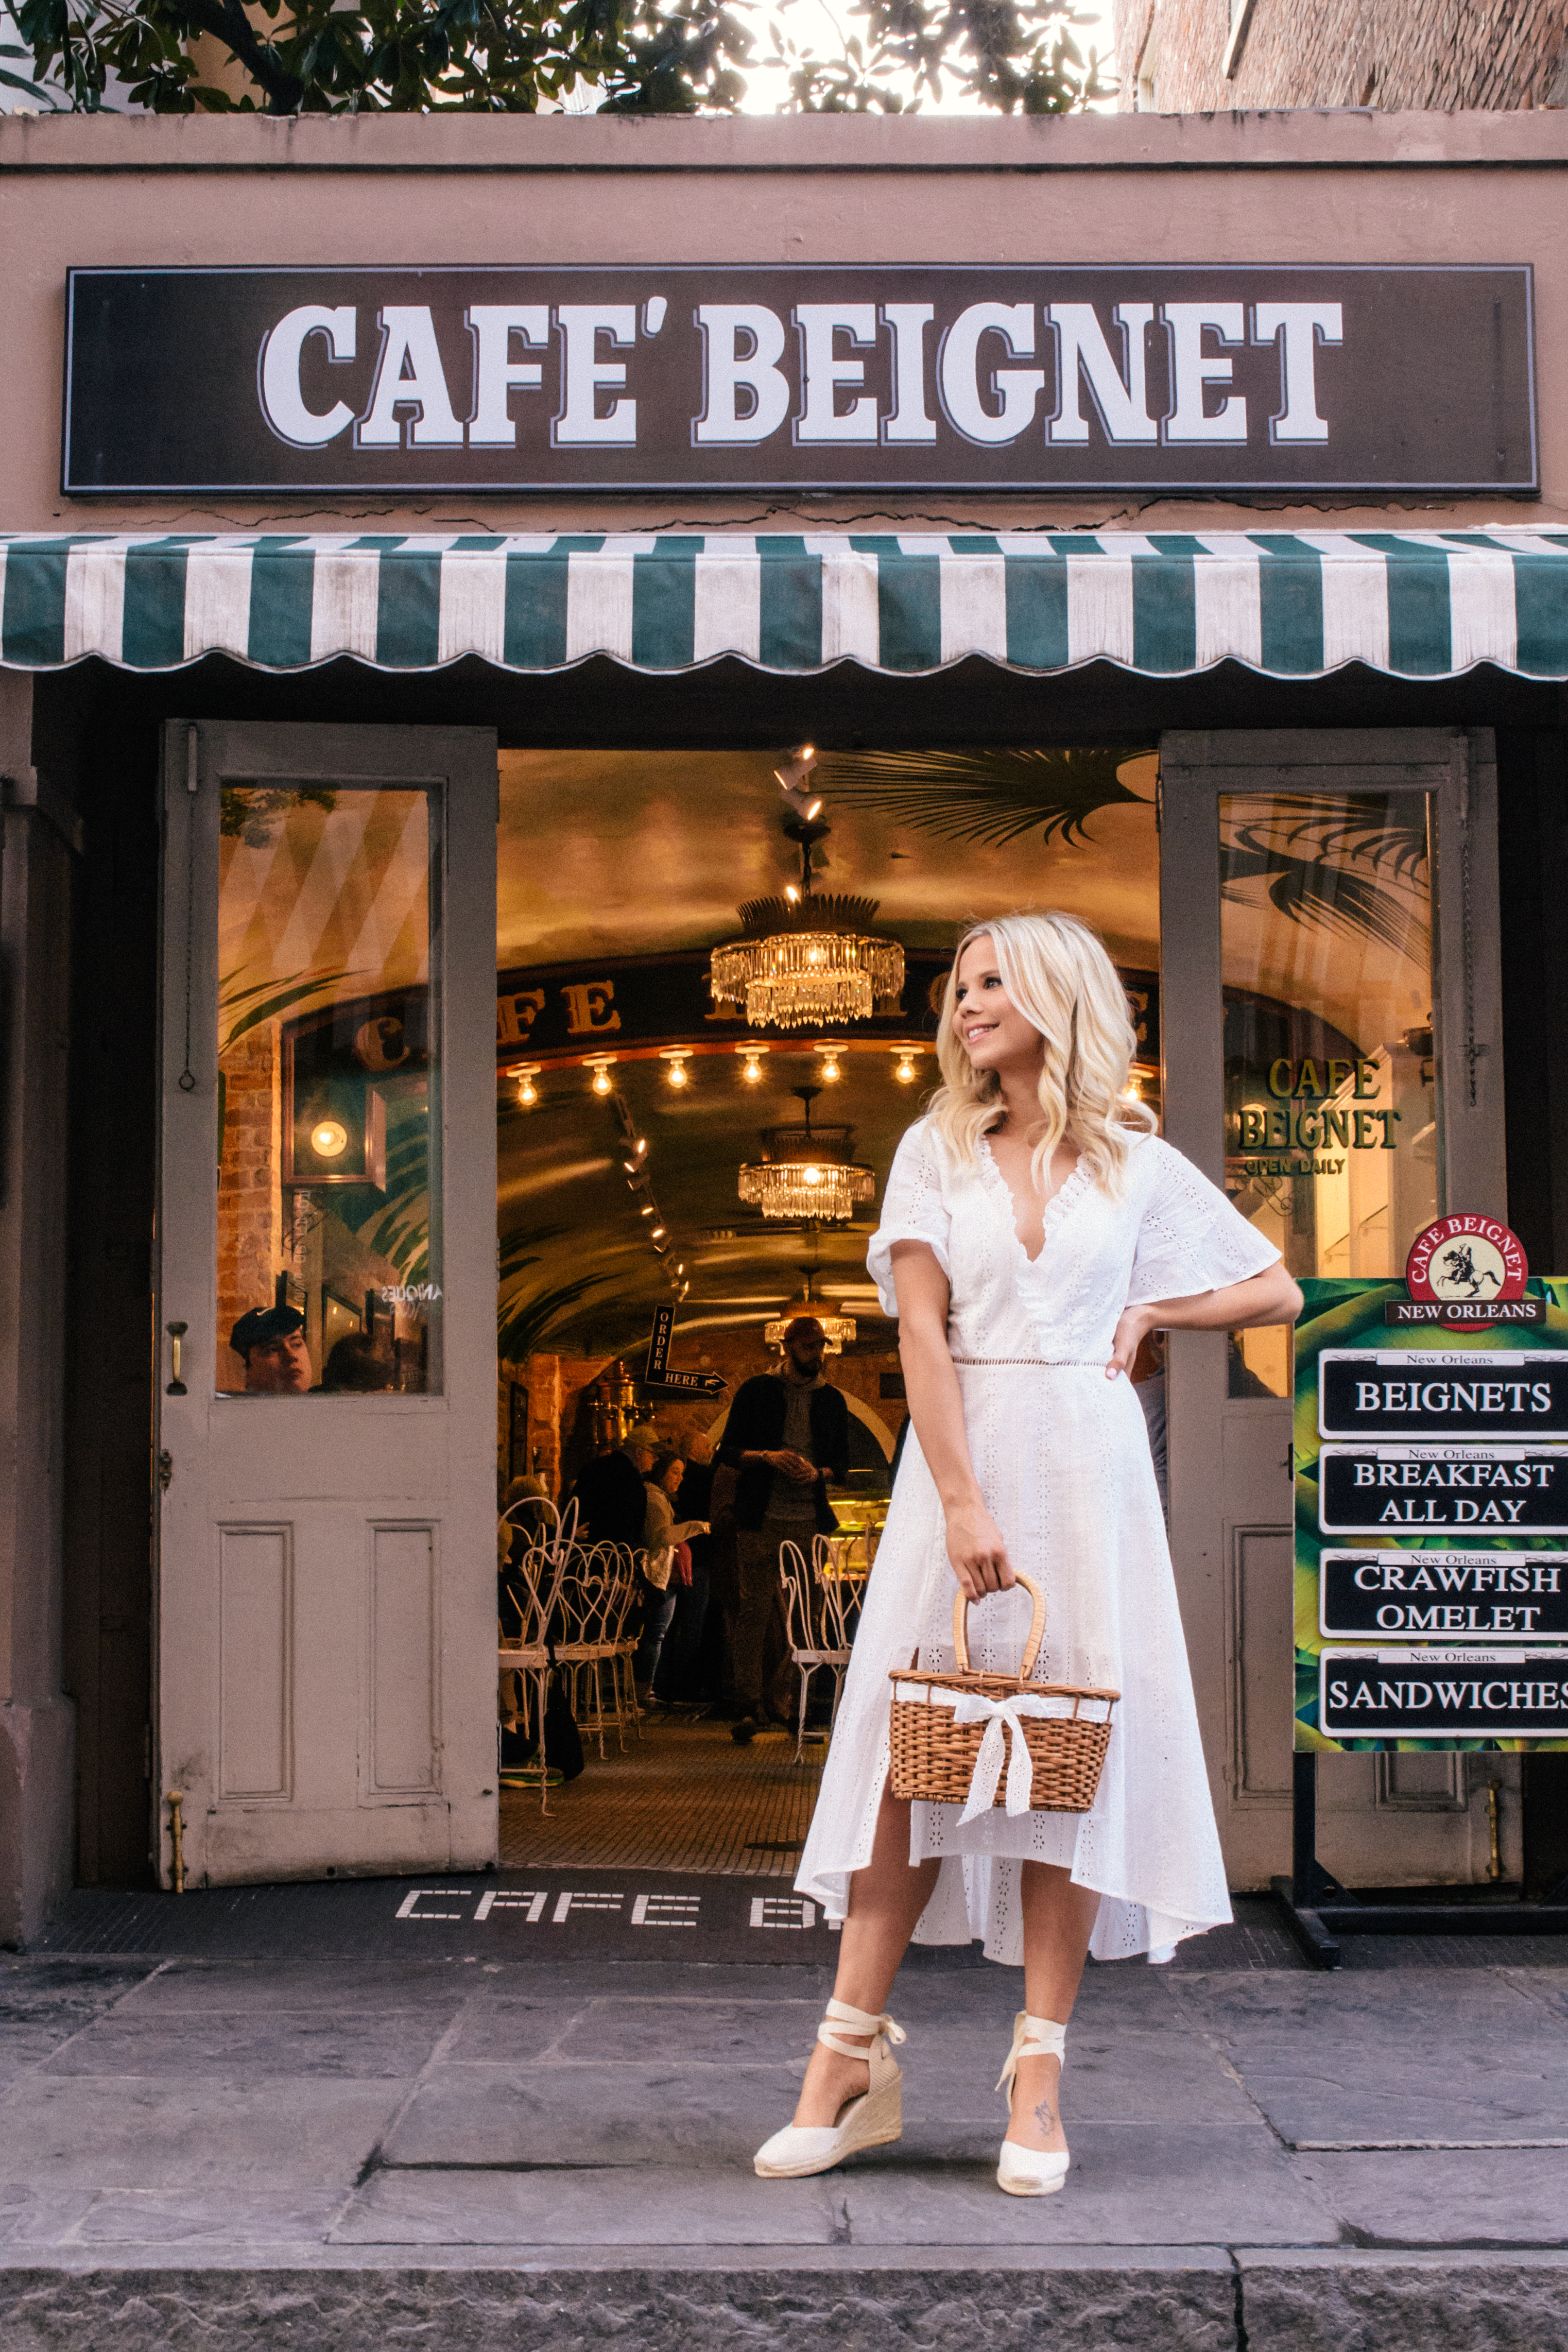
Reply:
M903 2143L762 2183L818 1962L0 1955L0 2347L1561 2347L1568 1955L1434 1952L1091 1969L1041 2201L964 1957Z

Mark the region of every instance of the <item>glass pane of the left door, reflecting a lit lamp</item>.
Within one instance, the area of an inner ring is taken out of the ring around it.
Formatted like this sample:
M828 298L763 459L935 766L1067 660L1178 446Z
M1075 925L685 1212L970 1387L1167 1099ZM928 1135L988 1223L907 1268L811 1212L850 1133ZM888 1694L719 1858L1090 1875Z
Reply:
M440 1388L435 823L423 790L223 786L223 1395Z

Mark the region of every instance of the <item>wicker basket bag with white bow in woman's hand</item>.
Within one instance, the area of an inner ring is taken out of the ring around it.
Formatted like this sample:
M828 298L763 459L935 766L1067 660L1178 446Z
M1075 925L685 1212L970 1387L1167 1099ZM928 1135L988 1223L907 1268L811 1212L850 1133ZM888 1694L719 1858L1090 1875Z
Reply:
M961 1804L961 1820L1004 1804L1009 1813L1086 1813L1110 1745L1110 1712L1121 1691L1032 1682L1046 1632L1046 1595L1034 1602L1023 1672L980 1675L969 1663L969 1599L952 1604L950 1675L893 1668L891 1790L926 1804ZM1086 1712L1088 1710L1088 1712ZM1004 1745L1006 1755L1004 1773Z

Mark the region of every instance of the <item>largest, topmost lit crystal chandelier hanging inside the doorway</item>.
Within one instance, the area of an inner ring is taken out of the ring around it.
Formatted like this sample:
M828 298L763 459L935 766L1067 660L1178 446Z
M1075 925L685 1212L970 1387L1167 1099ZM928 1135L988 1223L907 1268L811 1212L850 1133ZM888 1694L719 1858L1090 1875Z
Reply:
M816 753L806 743L776 769L790 814L785 835L799 844L799 889L748 898L741 938L712 950L710 988L719 1011L745 1014L752 1028L825 1028L830 1021L870 1021L898 1011L903 948L872 931L875 898L818 898L811 851L830 833L823 802L806 776Z

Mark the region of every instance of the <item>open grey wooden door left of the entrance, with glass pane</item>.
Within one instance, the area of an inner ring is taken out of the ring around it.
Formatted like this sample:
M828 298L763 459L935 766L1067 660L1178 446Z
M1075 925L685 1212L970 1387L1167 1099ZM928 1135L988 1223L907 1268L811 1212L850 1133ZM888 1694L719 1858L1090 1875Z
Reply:
M165 1884L496 1851L494 908L484 729L165 729Z

